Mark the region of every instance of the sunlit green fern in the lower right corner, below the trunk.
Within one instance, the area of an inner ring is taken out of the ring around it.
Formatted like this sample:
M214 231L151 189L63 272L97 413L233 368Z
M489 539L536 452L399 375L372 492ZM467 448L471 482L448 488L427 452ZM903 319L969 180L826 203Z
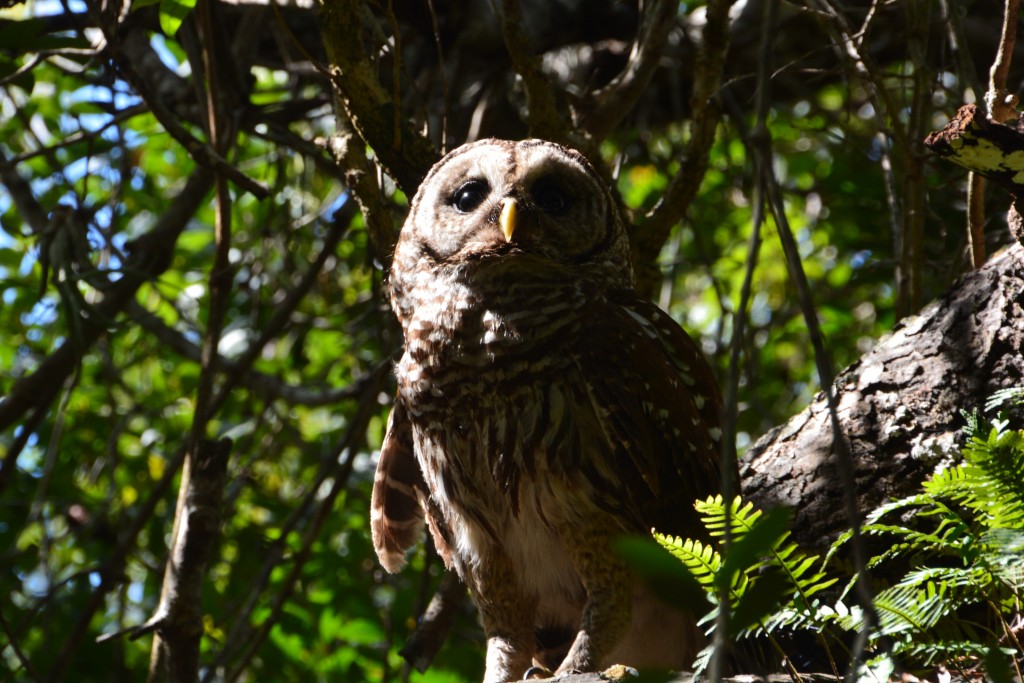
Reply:
M988 405L1022 398L1024 391L1005 391ZM876 595L871 640L922 664L988 651L1010 633L1024 597L1024 432L1009 430L1002 415L965 418L964 462L930 477L923 493L879 507L863 526L892 543L869 567L901 557L915 564ZM903 523L909 514L912 527ZM972 621L986 613L986 623ZM858 630L863 617L854 609L837 623ZM1024 654L1019 643L1015 651Z

